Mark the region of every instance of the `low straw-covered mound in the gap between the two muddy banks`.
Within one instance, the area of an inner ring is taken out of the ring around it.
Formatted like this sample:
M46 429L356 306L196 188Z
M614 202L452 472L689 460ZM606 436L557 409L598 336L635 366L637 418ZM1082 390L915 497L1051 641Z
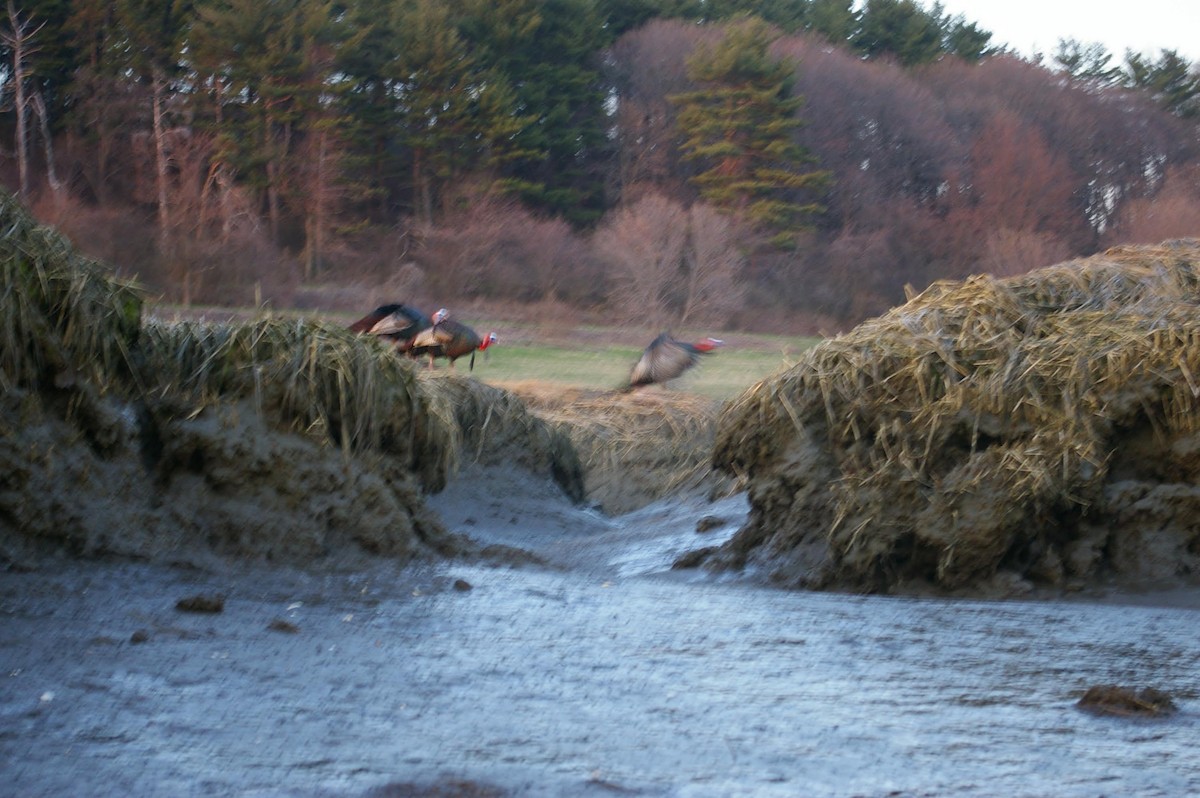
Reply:
M641 508L710 474L719 403L679 391L635 394L512 385L575 446L587 498L606 512Z

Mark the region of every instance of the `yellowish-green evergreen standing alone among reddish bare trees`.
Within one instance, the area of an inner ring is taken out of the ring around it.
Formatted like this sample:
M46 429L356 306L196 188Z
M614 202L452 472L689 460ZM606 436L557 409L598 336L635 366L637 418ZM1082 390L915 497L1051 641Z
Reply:
M804 169L812 158L793 137L803 98L791 94L792 65L770 56L772 37L757 19L730 25L718 44L689 60L689 77L701 88L672 101L684 157L702 169L694 178L701 196L785 244L821 212L811 194L828 174Z

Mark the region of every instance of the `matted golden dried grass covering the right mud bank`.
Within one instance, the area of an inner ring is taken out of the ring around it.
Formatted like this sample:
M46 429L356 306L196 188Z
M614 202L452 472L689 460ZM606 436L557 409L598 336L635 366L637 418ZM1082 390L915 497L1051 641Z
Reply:
M959 587L1086 511L1115 430L1198 410L1200 242L1172 241L937 283L744 394L715 462L760 480L743 558L817 528L828 560L791 581Z

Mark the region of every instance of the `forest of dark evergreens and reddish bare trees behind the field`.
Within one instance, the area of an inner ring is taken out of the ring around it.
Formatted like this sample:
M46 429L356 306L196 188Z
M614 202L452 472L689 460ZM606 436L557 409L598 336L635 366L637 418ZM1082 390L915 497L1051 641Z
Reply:
M1200 235L1195 64L1021 58L912 0L0 17L0 184L168 302L834 332Z

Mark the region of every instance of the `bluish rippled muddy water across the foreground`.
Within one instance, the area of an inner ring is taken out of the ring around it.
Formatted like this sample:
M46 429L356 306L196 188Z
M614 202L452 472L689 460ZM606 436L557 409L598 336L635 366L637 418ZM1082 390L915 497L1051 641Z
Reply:
M713 582L629 523L588 568L0 574L0 794L1200 794L1196 610Z

